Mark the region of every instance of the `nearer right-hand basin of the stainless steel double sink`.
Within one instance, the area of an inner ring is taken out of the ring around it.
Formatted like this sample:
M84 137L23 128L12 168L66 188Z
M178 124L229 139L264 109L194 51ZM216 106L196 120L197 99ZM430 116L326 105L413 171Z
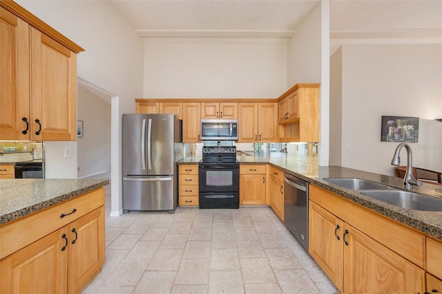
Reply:
M441 198L426 196L419 193L401 190L389 190L361 191L361 194L405 209L420 211L442 211Z

